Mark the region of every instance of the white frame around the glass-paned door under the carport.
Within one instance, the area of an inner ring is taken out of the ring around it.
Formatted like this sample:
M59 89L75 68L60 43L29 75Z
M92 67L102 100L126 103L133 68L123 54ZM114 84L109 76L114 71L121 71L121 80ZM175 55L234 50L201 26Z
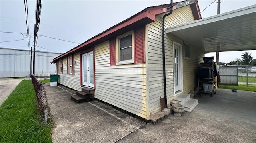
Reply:
M175 49L178 49L179 51L179 55L178 55L178 60L179 60L179 87L180 89L176 91L175 89ZM180 92L183 91L183 54L182 54L182 45L177 43L177 42L173 42L173 81L174 81L174 96L176 94L179 94Z

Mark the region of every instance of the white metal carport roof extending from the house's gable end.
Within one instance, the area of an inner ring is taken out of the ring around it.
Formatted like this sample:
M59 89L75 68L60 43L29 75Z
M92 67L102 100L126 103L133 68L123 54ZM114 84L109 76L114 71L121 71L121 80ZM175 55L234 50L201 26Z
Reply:
M256 49L256 5L166 29L205 53Z

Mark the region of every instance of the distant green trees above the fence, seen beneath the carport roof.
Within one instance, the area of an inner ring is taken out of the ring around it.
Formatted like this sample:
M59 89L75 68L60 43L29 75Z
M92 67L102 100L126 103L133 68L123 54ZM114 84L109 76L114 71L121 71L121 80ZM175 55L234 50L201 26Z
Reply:
M256 59L253 59L250 53L245 52L241 55L242 59L236 58L227 63L227 65L256 65ZM225 65L225 62L219 62L219 65Z

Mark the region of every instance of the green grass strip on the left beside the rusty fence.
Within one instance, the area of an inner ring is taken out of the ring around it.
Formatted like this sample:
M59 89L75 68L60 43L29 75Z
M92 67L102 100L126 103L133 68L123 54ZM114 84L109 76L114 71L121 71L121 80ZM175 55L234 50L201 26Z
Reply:
M22 80L0 107L1 143L51 143L50 124L39 121L31 80Z

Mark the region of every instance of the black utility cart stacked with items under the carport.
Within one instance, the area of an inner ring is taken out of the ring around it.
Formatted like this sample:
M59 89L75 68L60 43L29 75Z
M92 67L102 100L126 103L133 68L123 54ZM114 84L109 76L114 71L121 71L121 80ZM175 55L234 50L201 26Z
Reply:
M204 62L200 63L200 69L198 69L198 94L210 93L212 97L216 94L215 88L215 76L217 76L216 66L214 65L214 57L204 57Z

